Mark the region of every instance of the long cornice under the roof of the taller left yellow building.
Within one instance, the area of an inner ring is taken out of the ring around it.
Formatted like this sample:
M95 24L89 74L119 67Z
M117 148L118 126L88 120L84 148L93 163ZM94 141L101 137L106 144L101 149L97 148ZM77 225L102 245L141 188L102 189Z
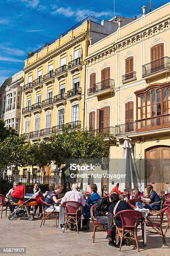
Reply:
M63 46L61 46L59 48L56 47L56 49L54 51L52 51L51 53L49 53L43 57L41 56L41 58L38 59L37 61L34 61L32 64L29 64L29 66L25 66L23 71L25 73L30 72L31 70L33 70L36 67L40 66L41 64L47 62L48 60L53 59L58 54L61 54L63 51L66 51L70 47L75 46L79 42L83 41L85 36L86 36L85 33L83 33L80 36L78 36L77 38L74 38L71 41L69 41L68 43L64 44Z

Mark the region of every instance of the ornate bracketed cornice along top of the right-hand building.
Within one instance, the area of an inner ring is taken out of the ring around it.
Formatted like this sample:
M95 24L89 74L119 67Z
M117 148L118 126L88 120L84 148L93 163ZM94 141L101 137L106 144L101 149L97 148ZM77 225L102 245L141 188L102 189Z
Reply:
M147 40L148 38L152 38L164 32L165 30L170 29L170 19L169 17L166 18L169 15L170 13L161 17L160 19L152 21L146 26L138 28L137 30L127 34L123 38L120 38L117 41L114 41L108 45L105 45L101 49L97 49L93 53L89 54L89 56L85 59L87 67L90 67L93 64L98 63L99 61L102 61L112 55L117 54L117 52L119 51L129 49L130 46L139 44L141 41ZM166 18L166 20L163 20L162 22L160 22L160 20L163 18ZM156 21L158 21L158 23L153 25L153 23L155 23ZM148 28L149 25L151 26ZM143 30L141 31L141 29ZM129 37L127 38L127 36ZM155 40L160 40L160 37L155 38L153 41Z

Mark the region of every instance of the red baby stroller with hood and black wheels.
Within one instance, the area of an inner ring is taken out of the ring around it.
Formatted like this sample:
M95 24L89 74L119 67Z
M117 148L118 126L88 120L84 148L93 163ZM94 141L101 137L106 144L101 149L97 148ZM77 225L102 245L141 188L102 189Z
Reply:
M25 193L25 185L19 185L18 187L16 187L13 190L11 197L14 202L13 205L18 205L18 207L12 213L10 213L8 219L13 220L13 218L15 218L16 216L23 217L26 213L28 216L28 220L33 220L34 214L29 214L27 207L37 205L36 200L40 196L43 195L41 195L39 191L35 194Z

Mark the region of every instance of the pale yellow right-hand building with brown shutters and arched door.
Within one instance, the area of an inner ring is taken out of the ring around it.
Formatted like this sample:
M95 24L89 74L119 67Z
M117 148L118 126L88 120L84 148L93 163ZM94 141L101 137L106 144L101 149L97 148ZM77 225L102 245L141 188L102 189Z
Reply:
M109 173L122 166L124 137L132 139L142 191L170 187L170 3L89 46L85 127L114 135ZM102 180L110 191L116 180Z

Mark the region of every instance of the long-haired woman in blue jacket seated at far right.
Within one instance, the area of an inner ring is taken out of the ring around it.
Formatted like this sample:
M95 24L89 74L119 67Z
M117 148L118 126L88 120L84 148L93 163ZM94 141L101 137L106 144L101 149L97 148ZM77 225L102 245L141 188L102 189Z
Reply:
M153 186L148 185L146 189L147 189L147 198L145 198L144 202L147 202L149 204L145 205L144 208L149 210L152 210L152 209L160 210L160 197L153 190ZM152 205L152 203L154 204ZM152 205L152 208L151 208L151 205Z

